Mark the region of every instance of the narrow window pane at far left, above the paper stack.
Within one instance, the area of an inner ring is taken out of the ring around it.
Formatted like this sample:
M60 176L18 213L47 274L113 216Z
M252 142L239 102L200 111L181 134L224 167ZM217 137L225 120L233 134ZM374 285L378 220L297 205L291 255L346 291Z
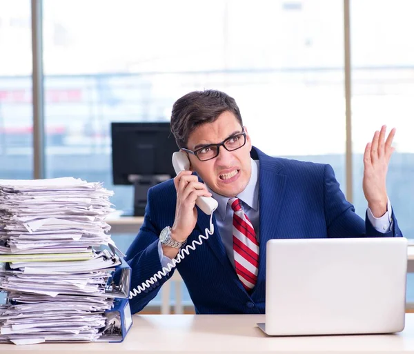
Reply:
M0 179L33 173L29 0L0 0Z

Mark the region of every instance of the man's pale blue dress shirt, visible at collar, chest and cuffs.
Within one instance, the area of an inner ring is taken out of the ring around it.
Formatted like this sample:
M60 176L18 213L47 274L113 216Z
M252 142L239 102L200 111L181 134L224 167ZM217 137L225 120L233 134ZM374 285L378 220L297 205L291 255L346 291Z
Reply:
M253 228L256 232L257 241L259 241L259 160L251 160L252 174L250 176L250 181L248 185L243 190L242 193L237 195L242 201L242 207L244 213L250 219L250 222L253 224ZM217 200L219 204L217 210L215 210L215 218L217 222L217 227L219 228L219 233L221 236L221 241L226 248L226 253L230 259L231 264L235 264L234 255L233 255L233 210L228 205L229 197L224 197L215 193L213 190L208 188L208 191L213 195L213 198ZM371 212L371 209L368 208L367 211L368 219L379 233L388 233L392 226L392 209L391 203L388 199L388 208L387 212L382 215L382 217L375 217ZM171 262L171 259L166 257L162 252L161 242L158 242L158 253L159 259L161 260L161 266L165 267L168 263Z

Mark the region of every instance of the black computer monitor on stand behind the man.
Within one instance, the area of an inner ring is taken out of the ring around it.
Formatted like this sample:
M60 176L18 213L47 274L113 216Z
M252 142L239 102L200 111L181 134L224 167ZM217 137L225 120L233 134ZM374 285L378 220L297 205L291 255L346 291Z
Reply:
M145 213L148 189L175 176L172 153L179 148L170 122L111 124L113 184L135 186L134 215Z

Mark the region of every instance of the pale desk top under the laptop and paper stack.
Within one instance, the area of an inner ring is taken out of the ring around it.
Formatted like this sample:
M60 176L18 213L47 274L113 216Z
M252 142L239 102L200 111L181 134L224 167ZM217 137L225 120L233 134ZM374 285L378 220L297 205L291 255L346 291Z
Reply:
M268 337L264 315L135 315L119 344L0 344L1 354L66 353L414 353L414 314L403 332L390 335Z

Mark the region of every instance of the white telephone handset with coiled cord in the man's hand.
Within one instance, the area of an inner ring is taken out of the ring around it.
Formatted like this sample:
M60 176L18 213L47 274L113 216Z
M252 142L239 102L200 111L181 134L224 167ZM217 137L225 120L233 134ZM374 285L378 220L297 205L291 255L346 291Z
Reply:
M190 161L188 161L186 153L179 151L178 153L174 153L172 155L172 165L174 166L175 173L178 175L182 170L188 170L188 168L190 168ZM141 293L141 291L145 291L146 288L153 288L153 285L157 282L157 280L161 279L161 277L166 277L166 275L170 273L171 269L175 268L175 266L181 262L181 259L184 259L184 257L190 253L190 250L195 250L195 247L197 245L201 246L201 244L203 244L203 239L208 239L208 235L213 235L213 211L217 209L217 200L213 199L212 197L198 197L195 201L195 204L197 204L197 206L203 210L204 213L210 215L210 228L205 229L206 235L199 235L198 239L193 239L193 242L191 242L191 244L187 244L186 247L179 250L177 257L172 259L171 263L163 267L161 271L158 271L152 275L150 279L147 279L141 285L137 286L137 288L132 289L132 291L130 291L130 299L132 299L134 296L137 296L139 293Z

